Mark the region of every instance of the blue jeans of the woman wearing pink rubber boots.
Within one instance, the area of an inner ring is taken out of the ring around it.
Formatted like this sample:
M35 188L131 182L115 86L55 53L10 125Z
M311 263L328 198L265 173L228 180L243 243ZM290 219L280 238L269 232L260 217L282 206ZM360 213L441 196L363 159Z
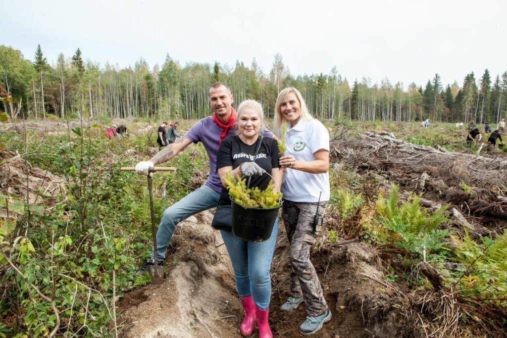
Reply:
M227 230L221 230L220 233L231 258L239 296L251 295L253 303L266 310L271 298L269 270L278 235L278 217L271 237L264 242L243 241Z

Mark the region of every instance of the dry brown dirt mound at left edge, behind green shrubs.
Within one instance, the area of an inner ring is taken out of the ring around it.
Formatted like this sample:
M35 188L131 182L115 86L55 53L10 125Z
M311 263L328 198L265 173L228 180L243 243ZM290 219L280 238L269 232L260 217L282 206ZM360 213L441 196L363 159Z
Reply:
M58 201L58 195L65 196L66 181L47 170L33 168L17 153L0 151L0 192L14 195L30 204L45 203L48 206Z

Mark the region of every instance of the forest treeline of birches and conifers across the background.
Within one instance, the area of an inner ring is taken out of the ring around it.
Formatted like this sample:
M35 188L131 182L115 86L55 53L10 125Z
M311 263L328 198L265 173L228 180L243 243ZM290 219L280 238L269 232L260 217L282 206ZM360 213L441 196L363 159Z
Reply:
M202 118L209 115L207 90L210 84L227 83L236 102L253 98L272 116L278 91L298 88L314 116L321 119L443 122L489 120L496 123L507 115L507 71L494 80L488 69L479 79L466 74L463 86L456 82L444 87L438 73L424 86L411 83L392 85L387 79L371 84L369 79L349 83L336 67L329 74L291 74L280 54L274 57L269 73L255 58L250 67L236 62L234 67L207 63L180 65L166 56L162 66L150 68L143 59L134 66L119 68L83 61L78 49L71 58L58 56L50 65L41 46L33 59L21 51L0 46L0 96L11 118L41 119L48 114L67 118L84 112L90 117ZM0 109L2 107L0 106Z

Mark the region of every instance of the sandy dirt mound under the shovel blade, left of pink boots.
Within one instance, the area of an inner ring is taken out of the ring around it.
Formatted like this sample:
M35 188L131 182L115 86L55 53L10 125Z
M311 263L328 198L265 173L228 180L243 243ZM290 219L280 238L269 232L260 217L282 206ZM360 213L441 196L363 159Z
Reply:
M208 219L203 212L197 219ZM166 279L119 301L123 337L236 337L241 304L220 233L182 222L168 254Z

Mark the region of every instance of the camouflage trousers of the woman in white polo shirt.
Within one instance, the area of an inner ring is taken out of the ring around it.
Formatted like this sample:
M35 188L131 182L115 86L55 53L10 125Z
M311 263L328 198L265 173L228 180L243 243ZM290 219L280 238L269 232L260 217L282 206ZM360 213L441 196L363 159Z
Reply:
M323 216L325 205L320 202L319 215ZM322 294L322 287L315 268L310 261L310 248L315 245L320 229L313 231L313 218L317 203L296 203L284 200L282 208L283 224L291 244L291 291L290 297L304 298L308 316L319 316L328 310ZM320 228L320 227L319 227Z

